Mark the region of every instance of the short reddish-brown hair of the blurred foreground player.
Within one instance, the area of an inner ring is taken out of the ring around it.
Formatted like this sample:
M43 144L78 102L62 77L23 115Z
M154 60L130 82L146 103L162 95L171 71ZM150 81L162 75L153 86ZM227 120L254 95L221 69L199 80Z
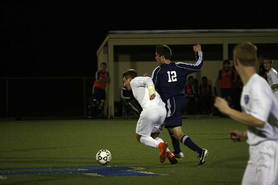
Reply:
M255 66L258 60L257 50L257 47L251 42L238 44L234 47L234 58L244 66Z

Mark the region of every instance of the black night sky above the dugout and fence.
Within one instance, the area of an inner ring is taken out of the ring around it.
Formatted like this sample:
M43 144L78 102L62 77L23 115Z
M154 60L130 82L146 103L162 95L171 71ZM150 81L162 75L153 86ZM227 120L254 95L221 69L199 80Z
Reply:
M2 2L1 77L93 76L109 30L278 28L276 5L156 2Z

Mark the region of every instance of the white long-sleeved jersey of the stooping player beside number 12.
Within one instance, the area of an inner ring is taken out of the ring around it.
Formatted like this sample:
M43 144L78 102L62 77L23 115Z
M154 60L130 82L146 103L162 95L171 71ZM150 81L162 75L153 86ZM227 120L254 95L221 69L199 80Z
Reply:
M161 97L156 91L155 98L150 100L147 84L154 84L150 77L138 76L130 82L133 95L141 105L142 109L146 109L148 107L165 107L165 103L161 100Z

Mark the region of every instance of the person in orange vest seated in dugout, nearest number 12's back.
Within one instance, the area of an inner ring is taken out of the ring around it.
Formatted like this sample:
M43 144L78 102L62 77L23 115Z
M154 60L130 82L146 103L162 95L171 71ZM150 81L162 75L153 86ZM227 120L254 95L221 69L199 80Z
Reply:
M188 77L188 83L184 87L184 95L187 97L187 114L198 114L198 88L193 83L193 76Z

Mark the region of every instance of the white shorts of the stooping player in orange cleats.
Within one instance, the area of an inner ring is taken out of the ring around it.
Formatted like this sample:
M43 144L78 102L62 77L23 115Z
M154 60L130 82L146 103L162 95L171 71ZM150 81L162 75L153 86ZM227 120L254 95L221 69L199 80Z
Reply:
M145 137L150 137L151 133L161 133L165 118L165 107L149 107L144 109L137 122L136 133Z

